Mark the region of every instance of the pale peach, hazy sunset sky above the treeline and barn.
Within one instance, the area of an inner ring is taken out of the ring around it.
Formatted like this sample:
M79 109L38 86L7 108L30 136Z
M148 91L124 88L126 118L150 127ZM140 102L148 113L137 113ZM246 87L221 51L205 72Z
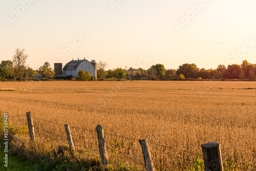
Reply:
M253 0L13 0L0 2L0 60L27 65L106 61L108 69L256 63Z

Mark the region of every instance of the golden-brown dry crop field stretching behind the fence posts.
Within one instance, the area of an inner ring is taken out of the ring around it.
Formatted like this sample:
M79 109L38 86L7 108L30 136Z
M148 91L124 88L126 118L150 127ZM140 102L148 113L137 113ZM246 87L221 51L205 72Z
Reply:
M147 138L158 170L190 169L211 141L221 143L225 169L247 170L256 165L255 88L252 81L0 82L0 110L14 125L27 125L30 111L44 148L68 144L63 124L70 124L81 158L98 158L101 124L113 165L142 168L138 140ZM39 145L37 152L44 153Z

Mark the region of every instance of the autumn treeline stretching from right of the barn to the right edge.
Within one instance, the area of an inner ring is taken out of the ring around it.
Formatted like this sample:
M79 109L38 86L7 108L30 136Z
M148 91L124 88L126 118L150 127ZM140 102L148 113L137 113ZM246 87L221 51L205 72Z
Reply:
M100 61L101 62L101 61ZM99 64L100 64L99 62ZM105 62L104 62L105 63ZM126 78L126 79L150 79L150 80L181 80L181 79L256 79L256 64L243 60L241 65L233 64L219 65L217 69L200 69L195 63L184 63L178 69L165 69L164 65L156 64L144 70L134 69L113 69L104 71L97 70L98 79Z

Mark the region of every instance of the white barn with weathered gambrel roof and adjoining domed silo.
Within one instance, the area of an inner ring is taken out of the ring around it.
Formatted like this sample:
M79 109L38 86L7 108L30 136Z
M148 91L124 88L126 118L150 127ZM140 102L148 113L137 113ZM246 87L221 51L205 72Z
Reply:
M80 70L89 71L90 74L97 79L97 63L95 60L89 62L87 59L83 60L71 60L63 67L63 76L78 77L78 72Z

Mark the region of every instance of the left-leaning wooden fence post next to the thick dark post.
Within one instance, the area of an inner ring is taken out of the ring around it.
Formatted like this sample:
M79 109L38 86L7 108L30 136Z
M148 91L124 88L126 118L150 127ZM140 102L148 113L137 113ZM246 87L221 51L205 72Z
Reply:
M139 140L139 142L142 148L146 171L154 171L155 167L151 158L150 146L148 146L147 140Z

